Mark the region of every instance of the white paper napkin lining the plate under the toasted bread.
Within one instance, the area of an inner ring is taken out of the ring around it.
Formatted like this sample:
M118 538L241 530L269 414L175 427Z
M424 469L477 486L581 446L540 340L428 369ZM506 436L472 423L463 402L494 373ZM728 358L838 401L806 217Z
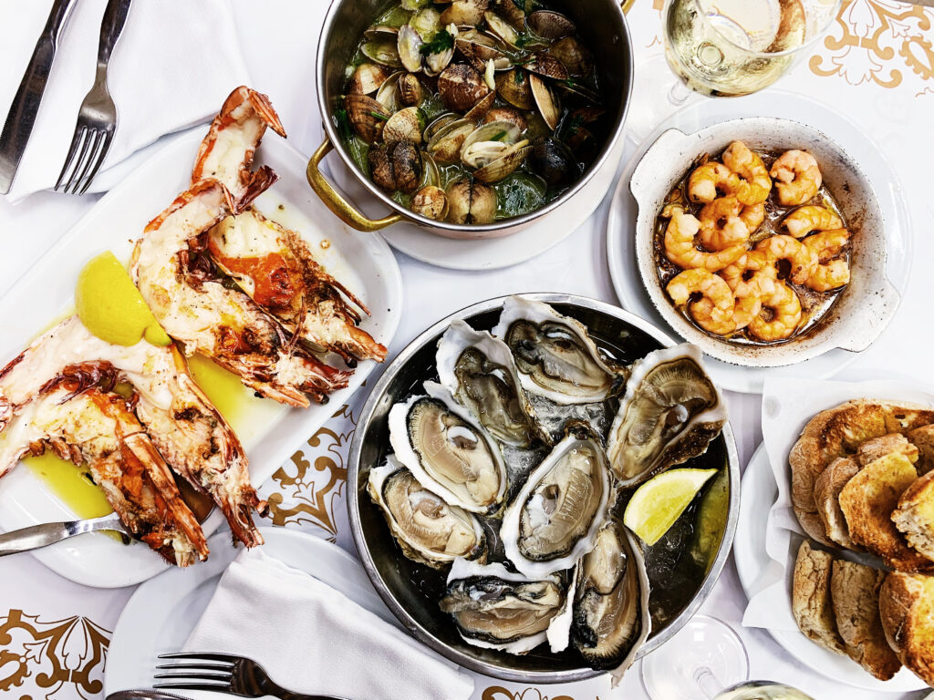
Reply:
M769 511L765 549L771 558L743 614L743 626L797 630L791 613L791 574L804 530L791 504L788 455L801 430L815 413L850 399L892 399L932 404L934 394L904 382L831 382L827 380L767 380L762 390L762 439L778 496Z

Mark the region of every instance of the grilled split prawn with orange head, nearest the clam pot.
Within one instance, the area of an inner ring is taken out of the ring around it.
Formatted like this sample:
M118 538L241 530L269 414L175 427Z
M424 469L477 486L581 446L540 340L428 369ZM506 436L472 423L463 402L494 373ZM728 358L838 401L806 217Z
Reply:
M231 191L237 208L275 181L267 167L250 173L266 127L285 136L265 95L234 90L205 136L192 184L213 177ZM249 196L245 197L245 193ZM262 308L316 352L333 352L353 367L382 362L386 347L358 328L366 306L315 260L304 239L253 208L224 218L207 237L211 257ZM359 309L359 311L358 311Z

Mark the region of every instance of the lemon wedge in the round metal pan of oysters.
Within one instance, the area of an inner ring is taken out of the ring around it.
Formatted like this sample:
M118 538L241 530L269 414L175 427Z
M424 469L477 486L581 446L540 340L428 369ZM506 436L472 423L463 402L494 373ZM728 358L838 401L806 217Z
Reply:
M671 469L632 494L623 524L651 546L674 525L716 469Z

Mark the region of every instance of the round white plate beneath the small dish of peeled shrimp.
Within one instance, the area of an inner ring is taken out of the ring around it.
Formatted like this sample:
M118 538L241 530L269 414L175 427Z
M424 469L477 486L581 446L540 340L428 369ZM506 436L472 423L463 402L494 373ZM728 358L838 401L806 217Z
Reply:
M616 186L606 227L606 257L616 296L628 311L677 334L658 313L642 283L635 254L635 222L638 207L630 193L630 176L648 147L670 128L694 133L721 121L743 117L793 119L828 133L850 154L872 184L885 221L886 272L904 295L912 266L911 221L901 194L899 178L884 155L856 125L825 105L799 94L765 91L729 100L703 99L676 112L658 126L638 147ZM741 367L713 357L705 357L707 370L725 389L760 393L767 377L796 376L827 379L859 357L858 353L834 349L804 362L786 367Z

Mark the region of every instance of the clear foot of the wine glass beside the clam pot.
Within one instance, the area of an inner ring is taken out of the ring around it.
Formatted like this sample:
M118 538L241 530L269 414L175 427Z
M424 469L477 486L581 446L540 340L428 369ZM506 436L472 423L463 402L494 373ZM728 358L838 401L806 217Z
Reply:
M630 111L626 117L626 138L633 146L681 107L703 98L672 72L664 55L658 54L635 66Z

